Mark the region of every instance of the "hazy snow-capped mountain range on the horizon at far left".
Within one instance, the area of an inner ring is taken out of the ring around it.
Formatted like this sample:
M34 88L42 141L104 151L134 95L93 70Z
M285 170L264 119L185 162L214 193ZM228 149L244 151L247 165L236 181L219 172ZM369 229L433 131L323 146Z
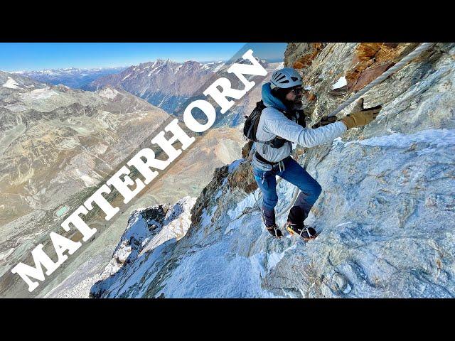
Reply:
M19 74L29 77L38 82L44 82L49 85L63 84L73 89L82 89L93 80L99 77L112 75L122 72L127 67L97 67L94 69L80 69L77 67L68 67L65 69L48 69L41 71L17 71L12 74Z

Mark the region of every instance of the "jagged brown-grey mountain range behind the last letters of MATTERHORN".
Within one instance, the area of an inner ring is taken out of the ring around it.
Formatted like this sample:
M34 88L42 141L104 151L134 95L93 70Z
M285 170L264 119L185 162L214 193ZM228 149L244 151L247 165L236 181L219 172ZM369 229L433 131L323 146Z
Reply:
M235 60L233 63L237 62L244 63L242 59ZM261 63L269 72L282 67L282 63L269 63L266 60L261 60ZM93 91L108 86L126 90L182 119L180 106L198 92L214 72L219 72L223 67L225 67L223 61L200 63L187 60L184 63L177 63L158 59L154 62L133 65L117 74L100 77L84 89ZM266 77L263 82L268 80ZM237 126L242 122L243 116L252 111L260 97L261 85L258 85L242 99L240 105L225 114L216 126Z

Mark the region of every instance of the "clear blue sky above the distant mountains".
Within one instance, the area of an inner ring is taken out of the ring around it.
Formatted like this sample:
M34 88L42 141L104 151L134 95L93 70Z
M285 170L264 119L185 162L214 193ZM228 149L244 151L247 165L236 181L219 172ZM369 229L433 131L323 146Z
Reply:
M129 66L156 58L228 60L245 43L0 43L0 70ZM282 57L285 43L260 43L261 56Z

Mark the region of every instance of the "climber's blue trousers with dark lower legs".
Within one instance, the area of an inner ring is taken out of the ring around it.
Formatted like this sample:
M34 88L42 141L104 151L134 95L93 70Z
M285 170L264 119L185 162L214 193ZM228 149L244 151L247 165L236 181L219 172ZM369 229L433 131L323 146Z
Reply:
M275 175L296 185L301 190L294 206L289 211L287 220L291 224L304 224L311 207L318 200L322 191L321 185L314 178L311 178L311 175L291 156L284 158L283 163L284 170L282 171L279 170L278 165L274 166L272 171L262 171L253 167L255 180L262 192L262 215L266 227L270 227L275 223L274 209L278 203Z

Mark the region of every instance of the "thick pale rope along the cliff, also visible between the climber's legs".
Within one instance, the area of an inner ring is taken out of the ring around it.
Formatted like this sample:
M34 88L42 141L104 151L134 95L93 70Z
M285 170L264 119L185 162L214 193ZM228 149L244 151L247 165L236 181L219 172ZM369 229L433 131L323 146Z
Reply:
M353 103L355 101L355 99L358 99L363 94L365 94L365 92L368 92L368 90L370 90L372 87L375 87L375 85L378 85L380 82L385 80L387 77L389 77L393 73L397 72L398 70L402 69L402 67L404 67L407 63L409 63L411 60L413 60L418 55L420 55L420 53L422 53L425 50L428 50L429 48L431 48L432 45L434 45L434 43L422 43L421 45L419 45L409 55L407 55L405 58L400 60L400 62L398 62L397 64L395 64L392 67L390 67L389 70L383 72L382 75L380 75L378 78L373 80L373 82L370 82L370 84L368 84L366 87L364 87L359 92L355 93L352 97L349 97L349 99L347 99L346 102L343 102L343 104L341 104L338 108L333 110L333 112L328 114L328 117L335 116L336 114L341 112L341 110L345 109L346 107L348 107L349 104ZM284 209L281 212L279 212L276 215L276 217L281 217L282 215L284 215L284 213L286 213L289 210L291 210L291 207L294 206L294 202L297 200L298 194L299 194L299 188L294 188L294 193L292 195L291 202L289 203L289 205L287 205L287 207L284 207Z

